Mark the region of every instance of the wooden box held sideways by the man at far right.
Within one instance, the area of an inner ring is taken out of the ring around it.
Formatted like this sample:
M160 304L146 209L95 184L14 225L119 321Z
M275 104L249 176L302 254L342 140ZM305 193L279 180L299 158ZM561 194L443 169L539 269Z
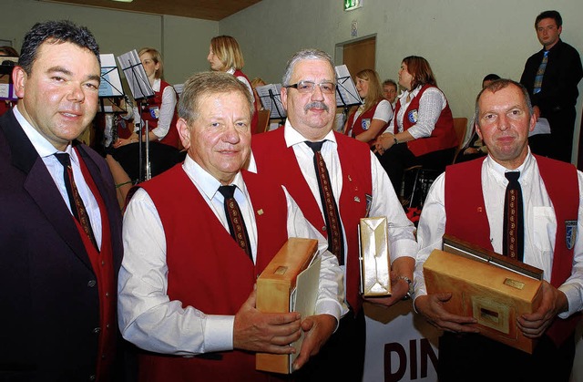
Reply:
M428 294L453 294L445 303L447 311L476 318L473 325L483 336L532 354L536 341L522 334L517 318L540 305L540 279L501 266L492 258L483 260L440 250L434 250L425 261L424 279Z

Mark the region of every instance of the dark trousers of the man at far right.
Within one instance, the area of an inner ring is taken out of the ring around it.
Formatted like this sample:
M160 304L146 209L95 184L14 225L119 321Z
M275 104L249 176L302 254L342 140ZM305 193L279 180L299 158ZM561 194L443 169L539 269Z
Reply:
M555 346L547 336L532 355L486 336L445 332L439 338L439 382L568 382L575 357L575 338Z

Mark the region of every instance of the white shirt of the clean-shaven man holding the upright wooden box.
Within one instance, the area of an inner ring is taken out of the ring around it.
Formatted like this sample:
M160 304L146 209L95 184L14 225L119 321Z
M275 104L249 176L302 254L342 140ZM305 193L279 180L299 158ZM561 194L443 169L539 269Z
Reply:
M182 168L229 232L220 182L186 157ZM253 261L257 256L257 226L247 187L237 174L235 199L249 233ZM284 189L285 191L285 189ZM321 283L316 314L338 320L348 308L343 305L342 270L336 257L326 251L328 243L305 220L295 201L285 191L289 237L318 239L322 255ZM211 315L196 306L170 301L166 238L159 214L148 192L139 189L128 203L123 225L124 259L118 279L118 315L122 335L133 344L158 353L193 356L233 349L234 315ZM251 293L251 291L250 291Z

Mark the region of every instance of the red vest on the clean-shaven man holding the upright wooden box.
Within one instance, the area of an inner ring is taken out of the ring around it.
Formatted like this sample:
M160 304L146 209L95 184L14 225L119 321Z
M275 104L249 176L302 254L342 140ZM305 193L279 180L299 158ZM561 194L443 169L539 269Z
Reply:
M208 315L235 315L261 271L287 240L287 204L281 186L247 171L243 179L257 222L256 265L230 237L181 164L140 184L154 201L164 226L170 300ZM141 381L233 379L261 381L267 375L255 371L253 353L240 350L191 358L139 356Z

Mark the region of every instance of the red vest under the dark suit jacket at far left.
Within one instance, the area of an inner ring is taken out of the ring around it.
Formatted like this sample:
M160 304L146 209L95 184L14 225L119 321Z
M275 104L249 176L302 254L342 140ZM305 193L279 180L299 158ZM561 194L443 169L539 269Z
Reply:
M97 204L99 205L99 212L101 214L101 250L97 252L93 243L83 231L83 227L77 219L72 218L77 224L77 230L85 245L91 267L97 278L97 293L99 294L99 341L97 350L97 380L107 381L112 375L111 362L116 354L116 336L118 333L118 322L116 320L116 312L118 309L118 285L116 285L116 277L114 274L113 251L111 248L111 234L109 229L109 220L107 219L107 209L105 202L101 198L101 194L97 190L97 185L85 162L77 153L77 158L81 165L83 178L87 182L91 193L95 196Z

